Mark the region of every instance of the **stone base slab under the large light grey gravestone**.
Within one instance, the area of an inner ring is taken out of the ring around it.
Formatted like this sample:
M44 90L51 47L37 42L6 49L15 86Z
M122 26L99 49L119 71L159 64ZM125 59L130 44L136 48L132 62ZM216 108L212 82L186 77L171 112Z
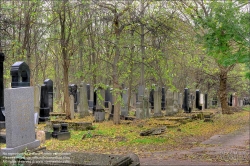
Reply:
M40 146L40 141L35 140L34 142L30 142L21 146L17 146L14 148L2 148L1 152L2 154L7 154L7 153L20 153L25 151L26 149L32 150Z

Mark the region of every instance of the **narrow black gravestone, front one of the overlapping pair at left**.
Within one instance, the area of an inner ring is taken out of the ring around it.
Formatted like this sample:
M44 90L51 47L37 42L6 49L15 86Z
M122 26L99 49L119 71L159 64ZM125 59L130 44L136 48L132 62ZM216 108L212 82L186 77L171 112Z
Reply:
M40 97L40 117L39 122L45 122L50 119L50 108L48 99L48 89L45 84L41 86L41 97Z

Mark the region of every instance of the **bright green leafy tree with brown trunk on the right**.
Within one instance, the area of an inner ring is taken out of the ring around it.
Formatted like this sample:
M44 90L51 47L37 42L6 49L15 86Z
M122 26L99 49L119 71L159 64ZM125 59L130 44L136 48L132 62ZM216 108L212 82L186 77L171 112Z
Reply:
M195 15L191 15L199 32L198 41L202 42L206 54L218 63L222 113L230 114L226 91L228 73L237 63L249 60L249 14L241 11L242 4L238 1L198 4L201 9L196 8Z

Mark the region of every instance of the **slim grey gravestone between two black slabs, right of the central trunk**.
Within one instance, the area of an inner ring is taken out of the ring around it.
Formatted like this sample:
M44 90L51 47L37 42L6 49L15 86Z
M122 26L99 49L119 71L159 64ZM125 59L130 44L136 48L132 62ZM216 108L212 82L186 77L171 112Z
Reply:
M161 88L156 86L154 89L154 116L162 116L161 113Z

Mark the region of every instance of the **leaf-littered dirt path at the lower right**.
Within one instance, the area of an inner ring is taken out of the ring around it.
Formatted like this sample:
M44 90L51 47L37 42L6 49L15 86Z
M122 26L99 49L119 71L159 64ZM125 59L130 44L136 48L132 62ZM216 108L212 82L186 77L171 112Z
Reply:
M144 153L144 165L250 165L249 126L227 135L214 135L188 150ZM145 157L147 156L147 157Z

